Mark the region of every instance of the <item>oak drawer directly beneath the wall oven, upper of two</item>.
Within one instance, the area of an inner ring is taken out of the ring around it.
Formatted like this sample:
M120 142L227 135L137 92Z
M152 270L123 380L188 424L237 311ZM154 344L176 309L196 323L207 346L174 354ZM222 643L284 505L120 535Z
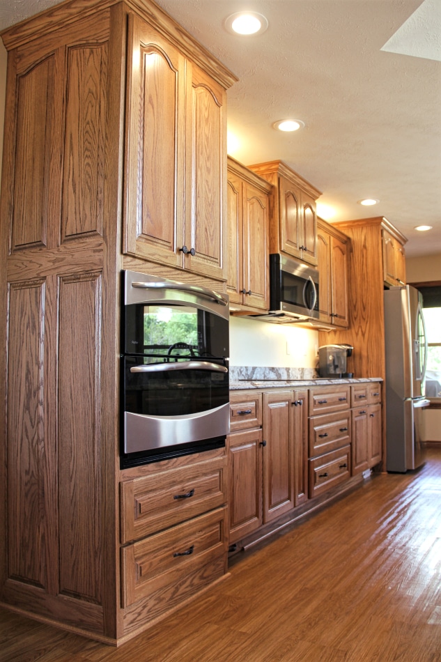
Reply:
M226 467L224 456L122 482L122 544L222 506Z

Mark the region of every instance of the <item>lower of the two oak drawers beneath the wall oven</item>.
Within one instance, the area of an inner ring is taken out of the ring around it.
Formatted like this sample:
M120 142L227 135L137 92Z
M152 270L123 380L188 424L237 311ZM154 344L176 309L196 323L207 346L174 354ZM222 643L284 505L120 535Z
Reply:
M123 547L123 607L145 598L161 613L222 576L227 557L225 524L226 507Z

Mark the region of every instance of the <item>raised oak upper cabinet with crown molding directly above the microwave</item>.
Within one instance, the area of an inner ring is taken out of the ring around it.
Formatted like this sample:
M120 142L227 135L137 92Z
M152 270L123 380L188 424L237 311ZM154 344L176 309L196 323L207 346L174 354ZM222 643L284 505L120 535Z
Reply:
M283 161L249 166L273 186L270 253L285 253L317 264L316 200L321 195Z

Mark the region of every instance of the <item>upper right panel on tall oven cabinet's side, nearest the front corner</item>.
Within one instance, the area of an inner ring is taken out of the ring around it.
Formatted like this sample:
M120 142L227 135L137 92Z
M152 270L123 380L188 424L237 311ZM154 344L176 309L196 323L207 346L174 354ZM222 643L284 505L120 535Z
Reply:
M102 235L107 43L68 49L63 240Z

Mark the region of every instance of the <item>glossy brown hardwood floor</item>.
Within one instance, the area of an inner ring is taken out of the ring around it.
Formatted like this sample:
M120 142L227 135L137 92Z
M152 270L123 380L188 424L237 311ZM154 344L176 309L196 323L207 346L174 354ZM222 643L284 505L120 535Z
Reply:
M441 448L238 555L118 649L0 609L0 660L441 662Z

